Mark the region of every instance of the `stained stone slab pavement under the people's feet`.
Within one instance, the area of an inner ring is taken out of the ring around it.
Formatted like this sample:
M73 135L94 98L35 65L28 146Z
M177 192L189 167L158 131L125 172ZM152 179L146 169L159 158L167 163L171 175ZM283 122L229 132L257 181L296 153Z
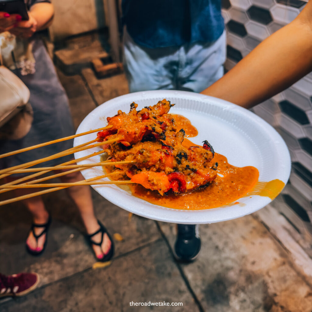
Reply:
M93 71L59 77L75 127L97 105L128 91L123 74L98 80ZM1 194L5 198L8 193ZM202 225L202 250L191 264L173 258L176 227L111 204L92 190L98 218L119 233L109 266L93 269L77 210L66 192L46 194L53 222L46 251L25 251L31 217L20 202L0 207L0 272L36 271L39 287L26 297L0 300L0 311L311 312L312 287L282 244L259 219ZM183 306L131 306L131 302Z

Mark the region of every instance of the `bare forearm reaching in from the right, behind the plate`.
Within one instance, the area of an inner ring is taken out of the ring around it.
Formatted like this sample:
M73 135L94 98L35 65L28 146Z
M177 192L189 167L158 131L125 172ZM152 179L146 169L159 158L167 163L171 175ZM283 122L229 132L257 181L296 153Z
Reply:
M250 108L312 71L312 0L290 24L262 41L201 93Z

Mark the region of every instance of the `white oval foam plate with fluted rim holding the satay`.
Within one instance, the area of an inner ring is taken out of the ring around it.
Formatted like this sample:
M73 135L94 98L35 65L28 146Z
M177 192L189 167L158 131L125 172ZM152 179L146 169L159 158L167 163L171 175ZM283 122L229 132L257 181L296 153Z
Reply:
M138 103L138 109L154 105L166 98L176 105L170 113L180 114L192 122L198 135L190 138L196 144L205 139L214 150L227 157L234 166L254 166L259 170L259 181L280 179L285 184L290 175L290 155L281 136L266 121L224 100L186 91L156 90L135 92L109 100L81 122L77 133L104 127L106 117L114 116L117 110L128 112L130 103ZM96 133L84 135L74 140L74 146L88 142ZM96 152L100 148L75 153L80 158ZM100 155L80 161L79 164L100 162ZM82 171L86 179L103 175L101 167ZM103 180L107 180L105 178ZM230 220L255 212L271 202L269 197L258 195L243 197L242 205L226 205L204 210L178 210L151 204L134 197L114 184L93 185L98 193L115 205L139 216L164 222L200 224Z

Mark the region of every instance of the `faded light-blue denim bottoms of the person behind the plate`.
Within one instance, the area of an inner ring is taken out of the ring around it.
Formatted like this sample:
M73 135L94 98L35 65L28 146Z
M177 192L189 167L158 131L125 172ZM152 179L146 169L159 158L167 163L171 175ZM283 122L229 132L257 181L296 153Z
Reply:
M225 32L214 42L146 48L124 29L124 69L130 92L184 90L201 92L223 76Z

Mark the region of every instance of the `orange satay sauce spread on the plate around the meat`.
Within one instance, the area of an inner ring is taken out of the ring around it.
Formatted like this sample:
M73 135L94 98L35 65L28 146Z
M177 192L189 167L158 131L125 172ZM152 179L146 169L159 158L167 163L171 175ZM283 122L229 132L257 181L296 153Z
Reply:
M177 129L184 129L187 137L198 134L197 129L182 115L173 115ZM184 139L186 148L195 146L189 139ZM199 145L197 145L199 146ZM236 167L227 162L227 158L215 153L211 165L217 162L217 178L206 188L197 189L192 193L161 196L157 191L151 191L140 184L128 184L132 194L147 202L174 209L202 210L216 208L230 203L239 204L241 197L252 195L267 196L274 199L284 188L285 183L280 180L258 182L259 171L252 166Z

